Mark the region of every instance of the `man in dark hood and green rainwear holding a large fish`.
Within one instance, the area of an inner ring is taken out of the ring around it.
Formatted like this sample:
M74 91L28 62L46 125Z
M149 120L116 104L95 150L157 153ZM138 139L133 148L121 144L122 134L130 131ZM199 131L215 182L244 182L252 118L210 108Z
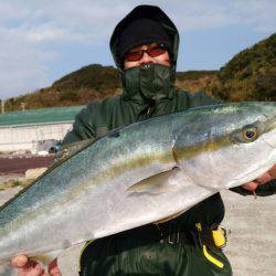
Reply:
M215 104L204 94L177 93L173 86L179 35L171 20L158 8L139 6L116 26L110 49L120 71L121 96L88 104L75 119L63 145L96 138L107 131L197 106ZM235 191L272 194L276 167ZM272 176L274 173L274 176ZM274 189L275 190L275 189ZM220 193L204 200L176 219L149 224L88 243L81 257L81 275L231 275L231 266L210 234L224 216ZM216 232L217 233L217 232ZM209 243L208 247L202 245ZM25 256L20 256L23 266ZM28 263L30 264L30 263ZM38 264L36 269L43 275ZM30 275L21 268L20 275ZM52 275L60 275L56 264Z

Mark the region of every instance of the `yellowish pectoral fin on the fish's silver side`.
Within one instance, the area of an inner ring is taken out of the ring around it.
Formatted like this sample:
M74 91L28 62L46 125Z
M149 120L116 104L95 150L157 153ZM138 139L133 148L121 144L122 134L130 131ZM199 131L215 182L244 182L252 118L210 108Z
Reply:
M151 176L129 187L127 191L151 194L160 194L167 191L171 191L176 187L173 177L179 171L180 169L176 167L169 171L163 171L158 174Z

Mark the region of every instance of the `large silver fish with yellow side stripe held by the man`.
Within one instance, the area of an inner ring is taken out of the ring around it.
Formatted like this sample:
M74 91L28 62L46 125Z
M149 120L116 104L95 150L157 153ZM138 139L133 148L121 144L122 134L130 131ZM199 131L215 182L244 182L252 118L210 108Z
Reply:
M276 103L189 109L110 131L0 209L0 261L183 213L276 162Z

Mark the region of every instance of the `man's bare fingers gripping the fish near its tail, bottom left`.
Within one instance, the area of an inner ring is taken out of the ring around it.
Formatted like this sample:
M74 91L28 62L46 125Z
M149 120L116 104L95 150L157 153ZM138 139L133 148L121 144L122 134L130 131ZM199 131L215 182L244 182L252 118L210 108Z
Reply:
M18 269L18 276L62 276L56 259L49 265L45 272L35 261L30 261L25 255L19 255L11 261L11 265Z

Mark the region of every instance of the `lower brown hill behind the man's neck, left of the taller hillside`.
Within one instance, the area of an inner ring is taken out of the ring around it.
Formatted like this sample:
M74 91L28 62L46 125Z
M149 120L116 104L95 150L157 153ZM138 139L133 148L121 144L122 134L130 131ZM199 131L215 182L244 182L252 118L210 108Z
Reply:
M177 87L191 92L203 91L216 72L191 71L177 74ZM92 64L70 73L52 86L6 102L6 110L21 108L85 105L121 93L118 70L113 66Z

